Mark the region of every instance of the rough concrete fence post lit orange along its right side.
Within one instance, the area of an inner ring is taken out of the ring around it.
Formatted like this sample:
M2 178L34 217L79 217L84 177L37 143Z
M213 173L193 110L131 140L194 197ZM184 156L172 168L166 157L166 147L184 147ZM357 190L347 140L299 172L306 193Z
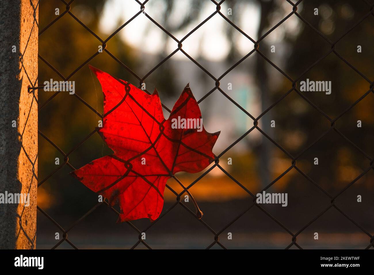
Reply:
M34 249L38 0L1 1L0 45L0 249Z

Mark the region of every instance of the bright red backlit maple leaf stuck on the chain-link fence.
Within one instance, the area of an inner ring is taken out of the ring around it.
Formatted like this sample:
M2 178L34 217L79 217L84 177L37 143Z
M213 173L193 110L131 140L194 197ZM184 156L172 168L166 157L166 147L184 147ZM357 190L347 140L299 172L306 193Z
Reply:
M148 95L126 81L90 68L104 93L104 118L98 132L114 154L71 174L112 206L120 205L117 222L154 221L162 211L166 181L177 172L196 173L213 162L212 148L220 132L208 133L202 123L200 128L187 128L198 127L192 123L202 121L189 85L165 120L156 89ZM183 125L183 119L190 124Z

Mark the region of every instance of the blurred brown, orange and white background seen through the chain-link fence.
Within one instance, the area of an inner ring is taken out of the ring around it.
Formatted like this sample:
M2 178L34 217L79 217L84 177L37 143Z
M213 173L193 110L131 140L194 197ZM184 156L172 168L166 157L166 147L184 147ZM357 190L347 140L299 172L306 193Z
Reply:
M296 2L293 0L294 3ZM369 3L369 4L368 4ZM373 0L304 0L297 12L331 41L335 42L370 11ZM70 12L105 40L121 25L136 15L141 5L135 0L76 0ZM216 11L209 0L150 0L144 12L181 40L197 25ZM39 3L39 30L55 20L56 9L61 15L66 4L59 0ZM318 8L318 16L314 9ZM231 9L232 14L228 14ZM259 39L292 12L286 0L226 0L221 10L230 21L253 40ZM259 43L259 51L292 79L331 81L332 93L303 92L321 111L334 119L370 89L370 83L334 53L322 59L311 70L305 70L327 54L331 45L296 15L291 15ZM374 71L374 16L367 16L359 25L335 45L336 52L349 64L373 81ZM98 51L101 45L85 27L70 14L65 14L39 36L39 55L65 77ZM362 52L357 51L358 46ZM275 46L275 52L271 52ZM143 13L116 33L108 42L108 51L120 62L144 77L159 62L178 48L161 28ZM197 28L182 48L216 78L254 49L254 43L216 13ZM107 52L93 58L91 64L135 86L140 81ZM103 111L101 86L88 68L80 68L69 80L75 81L76 94L98 113ZM62 80L39 59L39 85L45 80ZM148 91L156 87L161 101L172 109L175 101L189 82L197 100L215 87L215 81L181 51L177 51L145 78ZM229 89L229 83L232 89ZM249 55L220 80L220 88L253 117L286 94L292 82L269 64L257 52ZM39 106L55 92L39 90ZM214 147L220 155L245 134L253 120L220 91L215 90L200 104L205 129L221 131ZM374 95L363 100L341 116L335 126L350 141L374 155ZM165 117L168 112L164 110ZM39 130L65 153L81 143L98 124L100 117L67 92L52 98L39 112ZM275 128L270 127L275 120ZM362 127L357 127L357 121ZM297 156L330 128L331 122L295 91L258 120L258 126L292 156ZM93 159L111 154L97 133L89 137L69 155L69 163L80 168ZM64 156L48 141L39 136L39 182L59 165ZM227 162L232 158L232 165ZM319 164L314 165L314 158ZM251 131L220 158L220 165L252 193L260 192L291 166L291 158L257 129ZM314 144L297 159L297 167L332 196L346 187L370 167L370 160L335 131ZM209 167L208 167L209 168ZM208 169L207 168L207 169ZM88 212L96 203L97 195L70 175L64 165L38 188L38 206L64 229ZM204 171L203 171L204 172ZM178 173L188 186L203 172ZM177 192L182 188L174 180L167 183ZM223 229L252 202L252 197L219 168L215 167L190 189L204 213L203 221L215 232ZM295 169L277 180L267 192L288 193L288 206L261 205L292 233L330 205L330 198ZM352 186L341 193L335 204L369 233L374 233L374 171L370 169ZM357 196L362 202L357 202ZM166 211L175 202L175 195L165 189ZM184 203L193 212L192 201ZM128 224L116 224L117 216L105 205L99 206L68 233L68 239L78 248L131 248L138 241L138 233ZM140 231L150 225L148 219L133 221ZM58 240L59 229L38 211L37 248L52 248ZM232 233L232 239L227 234ZM319 233L315 240L314 232ZM292 236L257 207L252 207L220 235L227 248L285 248ZM174 207L146 231L152 248L206 248L214 242L214 234L180 205ZM365 248L370 237L335 208L330 208L319 219L297 236L303 248ZM58 248L71 248L63 242ZM140 244L137 248L145 248ZM220 248L215 244L212 248ZM291 248L296 248L295 246Z

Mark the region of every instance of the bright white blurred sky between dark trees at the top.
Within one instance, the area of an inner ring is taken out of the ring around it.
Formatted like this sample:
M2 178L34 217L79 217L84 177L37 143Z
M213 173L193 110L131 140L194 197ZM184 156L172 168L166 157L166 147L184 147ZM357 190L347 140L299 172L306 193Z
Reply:
M184 17L184 13L189 10L188 0L178 0L175 2L174 11L169 15L171 23L178 24ZM239 7L237 7L239 9ZM145 5L145 12L156 22L162 24L162 16L165 5L163 1L151 0ZM227 14L228 6L223 4L221 12ZM126 22L140 10L140 5L134 0L108 0L104 7L99 27L104 33L112 33L118 26L119 20ZM205 18L215 11L215 5L211 1L206 1L202 6L199 18L181 31L173 33L177 39L182 39L189 31L196 27ZM237 12L233 10L233 13ZM182 14L182 16L181 16ZM257 28L259 19L259 9L253 3L247 3L240 7L240 27L253 39L257 39ZM227 15L230 19L232 16ZM229 52L229 41L225 35L225 29L229 23L219 14L214 15L208 22L195 31L183 42L183 49L193 57L202 56L208 60L222 60ZM141 48L150 54L155 54L163 50L163 31L153 24L144 14L140 14L117 35L134 48ZM237 48L242 55L248 54L253 49L253 43L245 36L237 32ZM169 54L178 48L177 42L168 39L166 52ZM175 54L175 58L187 58L181 52Z

